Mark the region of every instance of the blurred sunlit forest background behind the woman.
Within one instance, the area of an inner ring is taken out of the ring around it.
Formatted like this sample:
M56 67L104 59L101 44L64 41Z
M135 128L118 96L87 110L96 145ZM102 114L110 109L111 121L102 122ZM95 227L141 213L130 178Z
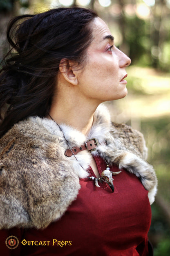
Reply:
M170 0L0 0L0 60L9 50L6 28L20 14L84 6L104 19L116 46L132 59L128 96L107 102L112 120L140 130L159 187L149 239L154 256L170 255Z

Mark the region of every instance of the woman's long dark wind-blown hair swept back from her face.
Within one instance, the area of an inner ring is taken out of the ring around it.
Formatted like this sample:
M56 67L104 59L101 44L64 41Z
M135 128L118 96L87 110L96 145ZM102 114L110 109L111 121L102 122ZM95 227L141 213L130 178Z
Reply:
M15 17L0 71L0 137L20 120L49 112L61 59L85 64L97 14L81 7ZM4 109L6 109L4 111Z

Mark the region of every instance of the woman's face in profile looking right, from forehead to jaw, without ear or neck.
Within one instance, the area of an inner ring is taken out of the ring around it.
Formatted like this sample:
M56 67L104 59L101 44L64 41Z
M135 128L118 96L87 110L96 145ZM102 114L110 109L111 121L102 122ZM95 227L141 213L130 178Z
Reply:
M127 95L125 68L131 60L116 46L112 34L101 18L92 23L93 41L87 48L87 64L80 71L79 89L83 96L96 103Z

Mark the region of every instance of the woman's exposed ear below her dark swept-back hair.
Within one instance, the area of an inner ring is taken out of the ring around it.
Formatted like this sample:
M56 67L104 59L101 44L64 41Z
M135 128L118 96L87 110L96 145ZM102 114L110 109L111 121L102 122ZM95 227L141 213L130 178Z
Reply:
M60 61L59 70L67 82L71 83L72 85L78 84L75 62L68 59L62 59Z

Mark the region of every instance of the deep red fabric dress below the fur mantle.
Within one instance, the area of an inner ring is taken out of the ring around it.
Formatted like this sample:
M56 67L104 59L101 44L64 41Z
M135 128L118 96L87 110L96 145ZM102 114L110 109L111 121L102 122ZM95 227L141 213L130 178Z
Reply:
M95 157L98 171L106 169ZM116 166L111 171L118 171ZM95 176L92 169L89 169ZM1 255L21 256L149 256L148 230L151 208L148 191L139 178L122 170L113 176L114 193L106 183L81 179L81 190L63 217L44 230L0 231ZM18 237L16 249L8 249L5 239ZM27 245L22 245L25 239ZM32 241L32 242L31 242ZM35 242L36 241L36 242Z

